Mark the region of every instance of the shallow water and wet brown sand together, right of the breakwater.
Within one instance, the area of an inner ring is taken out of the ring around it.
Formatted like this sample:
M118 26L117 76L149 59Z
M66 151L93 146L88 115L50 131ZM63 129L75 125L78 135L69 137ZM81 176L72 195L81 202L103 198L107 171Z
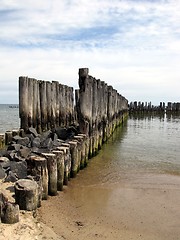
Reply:
M179 116L130 116L41 219L69 240L179 239L179 138Z

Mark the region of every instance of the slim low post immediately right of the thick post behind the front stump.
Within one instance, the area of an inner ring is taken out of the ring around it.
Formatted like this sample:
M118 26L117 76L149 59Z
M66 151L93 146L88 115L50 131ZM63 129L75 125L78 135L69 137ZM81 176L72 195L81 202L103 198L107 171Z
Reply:
M53 153L42 153L42 156L47 159L48 169L48 193L49 195L57 195L57 160Z

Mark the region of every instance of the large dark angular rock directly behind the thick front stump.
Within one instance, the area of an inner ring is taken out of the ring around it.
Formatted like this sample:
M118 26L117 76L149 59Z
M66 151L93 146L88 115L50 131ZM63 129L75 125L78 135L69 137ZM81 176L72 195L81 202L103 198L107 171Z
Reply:
M27 163L26 161L22 162L11 162L10 164L11 171L16 174L18 179L27 177Z

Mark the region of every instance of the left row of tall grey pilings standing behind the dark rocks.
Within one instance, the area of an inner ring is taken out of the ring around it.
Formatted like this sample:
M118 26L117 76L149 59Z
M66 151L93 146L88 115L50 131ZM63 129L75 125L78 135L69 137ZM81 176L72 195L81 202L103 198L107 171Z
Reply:
M74 124L73 88L57 81L19 77L19 115L21 128L38 133Z

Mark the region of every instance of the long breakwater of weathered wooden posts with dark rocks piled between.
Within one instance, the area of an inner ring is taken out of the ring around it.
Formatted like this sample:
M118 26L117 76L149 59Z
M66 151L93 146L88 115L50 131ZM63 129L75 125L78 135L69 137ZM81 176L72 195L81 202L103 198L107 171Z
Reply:
M0 156L1 178L15 182L16 205L1 197L3 221L18 221L17 205L35 210L62 191L127 115L127 99L87 68L79 69L75 103L72 87L20 77L20 129L6 132Z

